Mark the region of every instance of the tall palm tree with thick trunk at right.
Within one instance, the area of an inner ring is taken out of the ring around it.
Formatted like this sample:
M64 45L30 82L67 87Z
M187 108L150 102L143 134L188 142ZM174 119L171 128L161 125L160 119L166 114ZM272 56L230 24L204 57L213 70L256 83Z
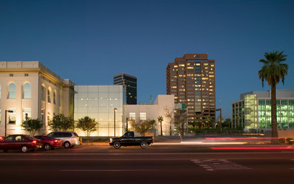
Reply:
M283 63L287 55L283 55L283 51L273 51L265 53L266 60L261 59L263 63L261 70L258 71L258 77L264 86L264 80L271 86L271 139L272 144L278 143L278 124L277 124L277 109L276 109L276 85L282 80L284 84L285 76L288 75L288 65Z

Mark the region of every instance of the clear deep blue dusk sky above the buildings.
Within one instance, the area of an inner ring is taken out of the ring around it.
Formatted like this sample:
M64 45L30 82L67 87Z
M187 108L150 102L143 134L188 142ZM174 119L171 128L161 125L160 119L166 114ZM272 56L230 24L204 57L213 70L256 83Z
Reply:
M270 90L257 72L265 52L285 51L294 82L294 1L1 1L0 61L38 60L76 85L138 77L138 103L166 94L168 63L185 53L215 60L223 117L239 94Z

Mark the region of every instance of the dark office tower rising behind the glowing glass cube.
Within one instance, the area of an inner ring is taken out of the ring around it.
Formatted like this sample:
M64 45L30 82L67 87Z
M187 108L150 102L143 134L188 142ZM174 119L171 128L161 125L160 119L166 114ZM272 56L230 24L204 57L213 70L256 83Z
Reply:
M137 77L122 72L114 75L114 85L124 86L126 104L137 104Z

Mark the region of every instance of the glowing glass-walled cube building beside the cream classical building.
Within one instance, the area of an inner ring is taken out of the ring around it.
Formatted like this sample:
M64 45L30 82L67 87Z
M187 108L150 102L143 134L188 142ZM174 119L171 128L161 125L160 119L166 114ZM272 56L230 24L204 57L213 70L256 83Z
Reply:
M121 136L124 131L122 85L76 85L75 86L75 120L88 116L96 119L97 131L91 136ZM117 109L114 113L114 109ZM77 129L80 136L84 132Z

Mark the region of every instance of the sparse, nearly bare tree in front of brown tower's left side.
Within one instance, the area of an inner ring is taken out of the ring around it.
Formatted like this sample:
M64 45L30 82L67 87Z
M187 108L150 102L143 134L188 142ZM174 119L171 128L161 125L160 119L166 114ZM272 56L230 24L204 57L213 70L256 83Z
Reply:
M187 111L185 109L175 109L174 124L178 129L180 141L182 142L182 136L184 136L185 124L187 123Z

